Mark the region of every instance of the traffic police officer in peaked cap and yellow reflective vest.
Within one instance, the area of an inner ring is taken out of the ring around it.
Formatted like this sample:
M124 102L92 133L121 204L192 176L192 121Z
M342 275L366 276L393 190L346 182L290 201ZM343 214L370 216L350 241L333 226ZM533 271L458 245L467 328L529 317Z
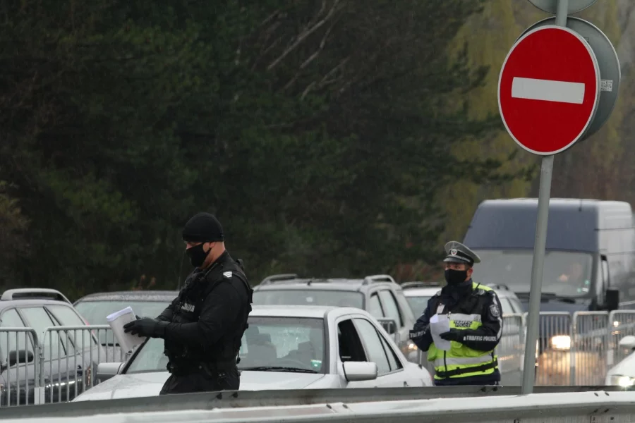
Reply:
M447 243L445 252L447 285L430 298L411 339L434 362L436 386L498 385L494 350L502 333L500 300L491 288L472 281L472 266L480 263L476 253L456 241ZM433 340L430 319L435 314L445 314L449 320L449 331L439 335L451 341L448 350L437 348Z

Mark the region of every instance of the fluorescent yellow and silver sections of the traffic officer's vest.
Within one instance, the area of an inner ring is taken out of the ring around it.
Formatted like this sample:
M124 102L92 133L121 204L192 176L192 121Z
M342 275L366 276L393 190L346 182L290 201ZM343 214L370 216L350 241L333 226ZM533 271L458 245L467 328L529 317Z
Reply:
M475 290L490 290L477 283L473 283L472 287ZM450 321L450 329L478 329L483 326L481 315L478 313L449 312L447 318ZM450 350L442 351L438 350L433 343L428 350L428 361L434 362L435 365L434 378L436 380L492 374L498 367L498 360L493 350L473 350L455 341L451 341L450 345Z

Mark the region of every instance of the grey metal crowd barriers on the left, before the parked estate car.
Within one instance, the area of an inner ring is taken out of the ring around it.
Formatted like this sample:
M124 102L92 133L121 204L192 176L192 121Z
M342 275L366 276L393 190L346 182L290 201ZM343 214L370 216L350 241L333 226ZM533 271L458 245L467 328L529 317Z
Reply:
M128 357L113 338L108 325L0 328L0 407L67 402L95 386L97 364Z

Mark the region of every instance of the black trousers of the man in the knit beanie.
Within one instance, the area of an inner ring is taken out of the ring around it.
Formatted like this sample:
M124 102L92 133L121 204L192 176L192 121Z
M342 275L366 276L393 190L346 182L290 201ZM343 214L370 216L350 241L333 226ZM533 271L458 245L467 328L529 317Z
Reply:
M229 370L219 370L207 374L201 370L200 373L179 375L171 374L159 395L169 393L192 393L210 391L238 391L241 386L241 376L238 369L234 367Z

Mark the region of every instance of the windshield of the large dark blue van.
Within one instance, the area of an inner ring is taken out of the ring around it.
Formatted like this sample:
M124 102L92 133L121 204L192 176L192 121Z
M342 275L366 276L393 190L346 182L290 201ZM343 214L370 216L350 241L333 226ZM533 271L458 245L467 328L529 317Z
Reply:
M473 279L507 285L515 293L528 293L533 250L474 250L480 264ZM543 270L543 293L585 297L591 290L593 256L586 252L548 251Z

